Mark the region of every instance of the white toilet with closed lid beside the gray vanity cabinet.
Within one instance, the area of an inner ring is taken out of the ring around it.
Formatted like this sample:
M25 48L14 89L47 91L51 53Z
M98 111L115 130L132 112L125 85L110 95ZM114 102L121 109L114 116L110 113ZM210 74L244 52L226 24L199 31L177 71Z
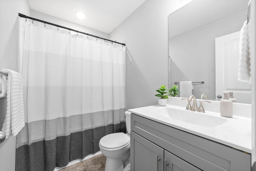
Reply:
M123 162L130 157L131 113L125 112L127 133L111 133L100 139L100 151L107 157L105 171L124 171Z

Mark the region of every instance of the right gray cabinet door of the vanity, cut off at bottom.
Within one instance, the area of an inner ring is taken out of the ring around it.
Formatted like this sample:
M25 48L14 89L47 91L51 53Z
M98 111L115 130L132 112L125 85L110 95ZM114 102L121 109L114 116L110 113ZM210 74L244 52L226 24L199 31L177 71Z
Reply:
M165 171L202 171L168 151L164 151Z

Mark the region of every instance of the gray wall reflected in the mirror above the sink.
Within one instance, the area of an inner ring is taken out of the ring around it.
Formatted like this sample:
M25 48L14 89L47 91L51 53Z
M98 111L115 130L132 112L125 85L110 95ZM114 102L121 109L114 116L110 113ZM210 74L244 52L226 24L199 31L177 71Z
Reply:
M215 38L240 31L246 13L244 9L170 38L170 82L204 81L193 84L193 94L200 98L206 93L215 99L216 93L221 93L215 93Z

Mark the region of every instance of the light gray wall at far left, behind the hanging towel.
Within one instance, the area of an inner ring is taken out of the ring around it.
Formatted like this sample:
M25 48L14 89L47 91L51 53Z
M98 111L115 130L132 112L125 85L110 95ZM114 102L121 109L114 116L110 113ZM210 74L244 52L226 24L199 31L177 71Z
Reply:
M0 70L18 71L18 13L30 15L27 0L0 1ZM5 18L6 17L6 18ZM0 129L6 115L6 98L0 98ZM0 144L0 170L15 170L16 137Z

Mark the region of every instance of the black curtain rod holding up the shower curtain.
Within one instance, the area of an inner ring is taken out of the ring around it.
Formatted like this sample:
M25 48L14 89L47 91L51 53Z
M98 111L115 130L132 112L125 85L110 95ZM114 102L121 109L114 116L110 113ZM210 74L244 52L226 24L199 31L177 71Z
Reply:
M116 41L113 41L113 40L109 40L109 39L101 38L101 37L99 37L99 36L95 36L95 35L93 35L93 34L88 34L88 33L80 32L80 31L78 31L78 30L74 30L74 29L71 29L71 28L67 28L67 27L64 27L64 26L60 26L60 25L58 25L58 24L53 24L53 23L50 23L50 22L46 22L46 21L43 21L43 20L39 20L39 19L37 19L37 18L32 18L32 17L26 16L26 15L24 15L24 14L20 14L20 13L19 13L19 16L22 17L22 18L28 18L28 19L31 19L31 20L34 20L34 21L42 22L42 23L44 23L44 24L49 24L49 25L56 26L56 27L59 27L59 28L64 28L64 29L66 29L66 30L70 30L70 31L73 31L73 32L85 34L85 35L88 35L88 36L92 36L92 37L94 37L94 38L98 38L98 39L102 39L102 40L107 40L107 41L109 41L109 42L114 42L114 43L121 44L121 45L125 46L124 43L119 43L119 42L116 42Z

